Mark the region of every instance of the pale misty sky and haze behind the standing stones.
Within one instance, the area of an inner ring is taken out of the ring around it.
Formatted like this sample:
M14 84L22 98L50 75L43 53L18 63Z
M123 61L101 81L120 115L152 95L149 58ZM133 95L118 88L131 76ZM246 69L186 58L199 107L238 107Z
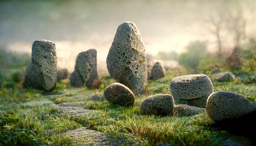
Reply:
M0 0L0 47L31 54L35 40L51 40L58 68L70 72L78 53L96 49L106 71L117 27L131 21L152 58L175 60L198 46L216 53L220 44L229 55L256 39L255 7L255 0Z

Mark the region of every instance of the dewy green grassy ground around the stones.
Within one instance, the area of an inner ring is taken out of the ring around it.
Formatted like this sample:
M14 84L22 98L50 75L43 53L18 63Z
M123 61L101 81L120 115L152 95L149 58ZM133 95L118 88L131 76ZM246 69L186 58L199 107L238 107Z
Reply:
M134 106L113 105L101 96L109 84L115 82L108 73L101 74L101 88L72 88L69 80L57 83L51 92L22 88L16 75L2 74L0 90L0 145L83 145L63 133L86 127L101 131L124 145L223 145L228 140L250 145L247 137L233 135L211 126L205 113L190 117L141 115L139 105L148 96L170 93L171 80L184 75L180 70L168 70L159 80L149 80L145 93L136 96ZM14 80L14 81L13 81ZM215 82L215 91L232 91L256 101L256 84ZM99 95L99 99L94 99ZM71 104L94 111L87 115L71 114L60 110L61 104ZM88 142L90 143L90 142Z

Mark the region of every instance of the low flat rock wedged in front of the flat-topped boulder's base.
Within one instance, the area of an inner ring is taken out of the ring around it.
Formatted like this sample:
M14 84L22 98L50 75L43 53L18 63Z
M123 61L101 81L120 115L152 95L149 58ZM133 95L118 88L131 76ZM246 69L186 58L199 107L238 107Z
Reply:
M189 106L186 104L178 104L173 108L175 116L191 116L200 113L205 113L205 108L198 108L196 106Z

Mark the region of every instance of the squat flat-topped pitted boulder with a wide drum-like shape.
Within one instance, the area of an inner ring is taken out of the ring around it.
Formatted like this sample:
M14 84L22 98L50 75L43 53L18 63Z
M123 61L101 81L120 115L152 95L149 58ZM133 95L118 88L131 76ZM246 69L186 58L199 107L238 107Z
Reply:
M175 104L188 104L205 108L208 96L213 92L213 84L204 74L175 77L170 84Z

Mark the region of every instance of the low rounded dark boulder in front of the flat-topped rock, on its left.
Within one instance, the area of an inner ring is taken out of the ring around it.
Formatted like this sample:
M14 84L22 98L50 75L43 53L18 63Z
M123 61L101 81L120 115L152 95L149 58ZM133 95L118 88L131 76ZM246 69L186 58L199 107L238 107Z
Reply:
M171 115L173 113L173 97L169 94L152 95L143 100L139 109L144 115Z

